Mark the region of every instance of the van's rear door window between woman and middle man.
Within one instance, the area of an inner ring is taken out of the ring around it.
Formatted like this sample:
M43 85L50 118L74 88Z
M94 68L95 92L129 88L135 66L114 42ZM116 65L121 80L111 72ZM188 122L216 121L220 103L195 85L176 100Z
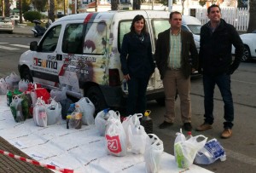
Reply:
M158 34L170 28L170 23L168 19L155 19L155 20L152 20L152 27L153 27L154 43L155 43L158 38Z

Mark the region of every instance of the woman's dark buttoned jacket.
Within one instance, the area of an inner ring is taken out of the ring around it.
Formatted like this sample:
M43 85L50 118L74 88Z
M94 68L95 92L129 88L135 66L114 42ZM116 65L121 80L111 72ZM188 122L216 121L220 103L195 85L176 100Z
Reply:
M136 33L126 33L120 52L121 69L130 77L148 78L154 72L154 60L150 37L144 34L141 41Z

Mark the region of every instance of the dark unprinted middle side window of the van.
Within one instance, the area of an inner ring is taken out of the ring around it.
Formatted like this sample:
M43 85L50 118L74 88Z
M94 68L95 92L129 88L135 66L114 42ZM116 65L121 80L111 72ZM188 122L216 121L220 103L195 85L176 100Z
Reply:
M61 48L63 53L83 53L83 29L84 24L68 24L66 26Z

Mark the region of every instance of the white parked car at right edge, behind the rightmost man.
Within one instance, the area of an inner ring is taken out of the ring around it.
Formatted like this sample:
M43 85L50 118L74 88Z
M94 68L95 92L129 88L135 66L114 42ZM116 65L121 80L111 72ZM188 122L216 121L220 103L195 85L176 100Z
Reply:
M252 33L241 34L241 41L244 44L244 50L241 61L250 61L256 58L256 30ZM235 54L235 47L232 48L232 54Z

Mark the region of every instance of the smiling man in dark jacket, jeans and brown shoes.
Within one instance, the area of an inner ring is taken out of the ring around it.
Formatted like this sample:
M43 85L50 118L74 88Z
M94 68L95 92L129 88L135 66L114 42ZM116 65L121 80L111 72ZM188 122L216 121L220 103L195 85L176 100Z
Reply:
M243 43L234 26L221 19L220 8L213 4L207 9L210 21L201 27L200 39L200 70L203 72L205 94L205 122L196 130L204 131L213 124L213 93L215 84L224 101L224 131L223 138L229 138L234 120L234 106L230 90L230 75L235 72L241 62ZM232 44L236 48L235 61L232 62Z

